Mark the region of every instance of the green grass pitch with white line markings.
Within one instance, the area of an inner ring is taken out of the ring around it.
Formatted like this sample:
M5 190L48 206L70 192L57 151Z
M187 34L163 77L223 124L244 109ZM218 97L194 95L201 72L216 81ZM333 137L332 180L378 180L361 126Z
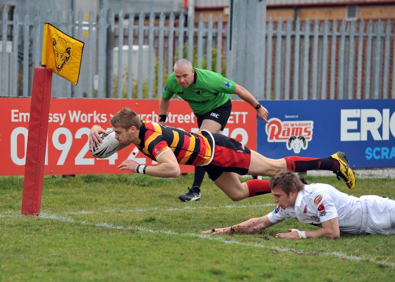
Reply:
M242 178L242 181L247 179ZM394 179L307 177L354 196L395 198ZM275 208L271 194L232 202L208 178L199 202L180 193L192 175L46 176L40 217L21 216L22 177L0 177L0 281L395 281L394 235L275 238L284 220L254 235L202 235Z

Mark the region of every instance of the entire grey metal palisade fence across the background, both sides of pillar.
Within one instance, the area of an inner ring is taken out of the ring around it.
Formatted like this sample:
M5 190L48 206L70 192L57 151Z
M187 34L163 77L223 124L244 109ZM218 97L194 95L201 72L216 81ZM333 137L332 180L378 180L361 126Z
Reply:
M13 16L9 9L0 22L3 96L30 95L33 69L41 65L43 24L54 15L51 23L85 47L79 83L55 75L53 97L158 97L178 58L232 79L229 24L222 17L204 22L182 13L109 9L97 16L79 11L74 20L72 11L37 10L21 19L17 6ZM266 27L266 58L255 58L265 59L265 91L253 93L258 99L395 98L393 22L270 19Z

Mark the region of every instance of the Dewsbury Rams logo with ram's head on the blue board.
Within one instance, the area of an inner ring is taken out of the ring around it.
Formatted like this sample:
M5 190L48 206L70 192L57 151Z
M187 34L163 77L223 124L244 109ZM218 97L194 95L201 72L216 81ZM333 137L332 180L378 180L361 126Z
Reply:
M313 138L313 125L312 120L281 121L271 118L265 126L267 142L285 142L288 150L293 149L295 154L299 154L301 149L307 149Z

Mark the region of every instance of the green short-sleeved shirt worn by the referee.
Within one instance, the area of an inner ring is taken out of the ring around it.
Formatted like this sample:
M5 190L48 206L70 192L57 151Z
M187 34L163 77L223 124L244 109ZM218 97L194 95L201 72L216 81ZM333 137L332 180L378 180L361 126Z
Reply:
M199 115L206 114L228 102L230 94L235 92L235 82L207 69L195 67L193 69L195 70L194 83L185 89L177 83L173 72L167 78L163 88L163 99L169 100L173 94L177 94L188 102L195 114Z

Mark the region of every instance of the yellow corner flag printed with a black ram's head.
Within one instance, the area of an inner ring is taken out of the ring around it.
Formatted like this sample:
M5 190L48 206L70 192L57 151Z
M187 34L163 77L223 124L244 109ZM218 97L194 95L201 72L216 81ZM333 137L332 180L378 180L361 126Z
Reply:
M77 85L84 43L49 23L44 24L43 54L45 65L59 76Z

